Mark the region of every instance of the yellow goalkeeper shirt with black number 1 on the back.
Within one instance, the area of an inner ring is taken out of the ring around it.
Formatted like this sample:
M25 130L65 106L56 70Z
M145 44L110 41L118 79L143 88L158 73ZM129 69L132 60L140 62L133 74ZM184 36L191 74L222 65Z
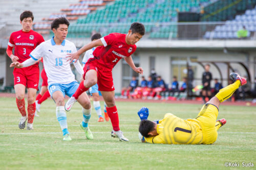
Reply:
M154 137L145 137L148 143L200 144L203 141L202 128L196 119L182 119L171 113L164 115L157 125Z

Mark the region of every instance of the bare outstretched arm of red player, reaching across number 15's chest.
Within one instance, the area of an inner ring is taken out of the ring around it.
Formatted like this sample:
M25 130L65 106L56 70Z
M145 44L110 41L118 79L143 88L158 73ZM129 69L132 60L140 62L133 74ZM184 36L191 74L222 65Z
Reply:
M67 58L69 58L70 63L75 60L75 63L77 62L78 58L80 57L80 55L88 50L90 50L91 48L95 47L95 46L102 46L103 43L101 42L100 39L92 41L86 45L84 45L83 47L81 47L76 53L73 54L68 54Z

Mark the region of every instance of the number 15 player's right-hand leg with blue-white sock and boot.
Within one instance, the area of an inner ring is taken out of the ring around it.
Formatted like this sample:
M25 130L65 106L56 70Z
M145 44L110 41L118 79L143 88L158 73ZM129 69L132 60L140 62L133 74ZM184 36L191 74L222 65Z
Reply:
M80 124L82 130L86 133L87 139L93 139L93 134L88 126L91 118L91 102L86 92L83 92L77 99L77 102L82 106L83 119Z

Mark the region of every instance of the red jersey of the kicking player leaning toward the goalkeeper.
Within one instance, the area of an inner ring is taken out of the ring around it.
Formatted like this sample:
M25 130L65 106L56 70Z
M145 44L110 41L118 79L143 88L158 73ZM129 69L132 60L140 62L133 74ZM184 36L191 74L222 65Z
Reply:
M102 37L100 40L103 46L98 46L94 50L94 58L89 61L97 60L100 64L113 68L120 59L131 56L137 46L127 44L125 36L126 34L111 33Z

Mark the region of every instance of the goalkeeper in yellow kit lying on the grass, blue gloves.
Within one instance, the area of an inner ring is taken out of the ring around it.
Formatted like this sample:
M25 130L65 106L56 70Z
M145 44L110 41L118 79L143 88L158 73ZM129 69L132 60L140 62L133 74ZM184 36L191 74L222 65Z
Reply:
M219 105L230 98L234 91L246 84L246 79L236 73L230 74L233 84L221 89L209 100L194 119L182 119L171 113L162 120L147 120L148 109L143 107L138 115L141 118L139 132L142 142L164 144L211 144L217 140L217 130L226 120L217 120ZM217 120L217 121L216 121Z

